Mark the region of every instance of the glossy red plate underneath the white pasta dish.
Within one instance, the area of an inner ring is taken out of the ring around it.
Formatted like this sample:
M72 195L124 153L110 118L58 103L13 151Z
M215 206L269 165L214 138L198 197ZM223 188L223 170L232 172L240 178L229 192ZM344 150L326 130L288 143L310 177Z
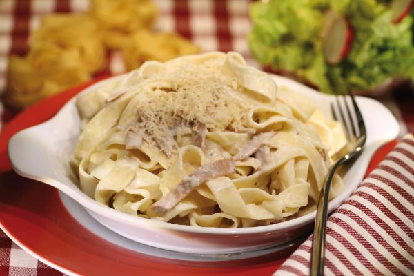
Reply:
M1 132L0 226L5 233L28 253L64 273L271 275L295 250L295 246L262 257L226 262L188 262L150 257L98 237L68 213L55 188L10 171L6 153L10 137L23 128L50 119L68 99L95 81L37 103L21 112ZM375 167L391 148L388 145L379 150L369 168Z

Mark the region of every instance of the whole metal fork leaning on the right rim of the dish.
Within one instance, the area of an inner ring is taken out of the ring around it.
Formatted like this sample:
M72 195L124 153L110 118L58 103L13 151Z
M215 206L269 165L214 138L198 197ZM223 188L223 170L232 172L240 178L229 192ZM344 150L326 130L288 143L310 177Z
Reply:
M335 106L338 112L335 112ZM349 144L346 152L339 155L328 175L326 175L324 186L322 186L319 195L313 233L311 275L324 275L326 219L328 217L329 189L331 188L333 175L339 166L361 154L366 141L364 119L351 91L346 92L346 95L336 95L335 101L331 102L331 112L335 120L344 124Z

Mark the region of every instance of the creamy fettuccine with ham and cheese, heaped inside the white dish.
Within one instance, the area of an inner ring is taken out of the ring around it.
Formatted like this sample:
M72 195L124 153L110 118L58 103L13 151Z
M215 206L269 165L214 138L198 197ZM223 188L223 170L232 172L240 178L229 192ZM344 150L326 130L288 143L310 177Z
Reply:
M210 52L82 95L80 188L101 204L175 224L239 228L311 210L343 127L277 88L236 52ZM335 175L331 198L342 188Z

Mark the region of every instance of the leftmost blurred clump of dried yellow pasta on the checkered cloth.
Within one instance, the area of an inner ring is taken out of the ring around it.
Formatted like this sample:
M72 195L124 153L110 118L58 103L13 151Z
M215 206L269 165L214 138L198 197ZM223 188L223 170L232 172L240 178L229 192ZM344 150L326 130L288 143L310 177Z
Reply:
M86 81L106 64L95 21L84 15L46 16L34 32L26 57L8 64L6 103L20 109ZM74 39L76 38L76 39Z

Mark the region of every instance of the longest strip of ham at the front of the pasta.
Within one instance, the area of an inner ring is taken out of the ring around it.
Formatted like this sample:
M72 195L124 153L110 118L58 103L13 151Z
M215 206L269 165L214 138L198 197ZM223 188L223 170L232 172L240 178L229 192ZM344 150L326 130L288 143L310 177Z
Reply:
M211 163L204 164L195 170L192 174L184 177L184 179L170 192L152 204L151 208L156 213L164 215L168 210L172 209L181 199L189 195L197 186L205 181L230 175L235 172L235 164L229 159L220 159Z

